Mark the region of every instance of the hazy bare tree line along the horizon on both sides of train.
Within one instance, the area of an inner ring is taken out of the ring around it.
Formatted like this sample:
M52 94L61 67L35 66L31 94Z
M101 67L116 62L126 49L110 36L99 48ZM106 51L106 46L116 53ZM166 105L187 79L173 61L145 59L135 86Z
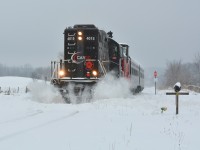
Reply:
M60 53L60 58L62 57ZM19 76L50 80L51 68L50 66L34 68L30 64L9 67L0 63L0 76ZM192 63L182 63L181 60L168 62L164 74L159 78L159 86L161 88L173 87L176 82L180 82L182 85L196 85L200 87L200 53L195 55Z

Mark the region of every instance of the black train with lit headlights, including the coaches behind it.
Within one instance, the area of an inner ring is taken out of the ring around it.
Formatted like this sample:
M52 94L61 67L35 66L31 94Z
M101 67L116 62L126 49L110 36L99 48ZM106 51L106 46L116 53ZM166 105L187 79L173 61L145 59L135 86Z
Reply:
M106 33L92 24L64 30L64 59L51 62L51 83L62 95L69 94L70 84L75 95L81 95L85 87L91 91L109 72L130 80L134 93L144 88L144 69L129 56L128 44L116 42L111 31Z

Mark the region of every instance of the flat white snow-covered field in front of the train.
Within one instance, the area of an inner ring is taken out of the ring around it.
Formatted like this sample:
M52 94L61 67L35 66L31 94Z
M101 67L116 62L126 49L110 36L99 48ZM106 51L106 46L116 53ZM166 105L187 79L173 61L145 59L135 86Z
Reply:
M82 104L65 104L55 89L32 79L0 77L0 87L20 89L0 93L0 150L200 149L200 94L191 91L180 96L175 115L175 96L155 95L153 87L120 96L125 89L115 84L99 88L110 96Z

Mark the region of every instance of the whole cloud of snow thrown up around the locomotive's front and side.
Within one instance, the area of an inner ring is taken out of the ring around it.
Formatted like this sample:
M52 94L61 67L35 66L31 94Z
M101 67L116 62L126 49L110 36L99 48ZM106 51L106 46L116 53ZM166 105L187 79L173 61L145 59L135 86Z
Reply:
M28 88L33 101L41 103L65 103L66 101L53 85L44 82L32 82L28 85ZM66 95L72 104L87 103L99 99L127 98L131 95L128 80L116 78L112 74L108 74L103 80L99 81L92 91L90 87L86 86L83 91L74 93L74 88L75 85L70 84Z

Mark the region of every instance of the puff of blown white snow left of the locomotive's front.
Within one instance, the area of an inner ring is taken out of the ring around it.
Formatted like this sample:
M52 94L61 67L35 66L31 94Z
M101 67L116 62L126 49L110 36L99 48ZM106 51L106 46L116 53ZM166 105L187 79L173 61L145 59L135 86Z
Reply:
M32 82L28 85L31 99L41 103L64 103L59 91L44 82Z

